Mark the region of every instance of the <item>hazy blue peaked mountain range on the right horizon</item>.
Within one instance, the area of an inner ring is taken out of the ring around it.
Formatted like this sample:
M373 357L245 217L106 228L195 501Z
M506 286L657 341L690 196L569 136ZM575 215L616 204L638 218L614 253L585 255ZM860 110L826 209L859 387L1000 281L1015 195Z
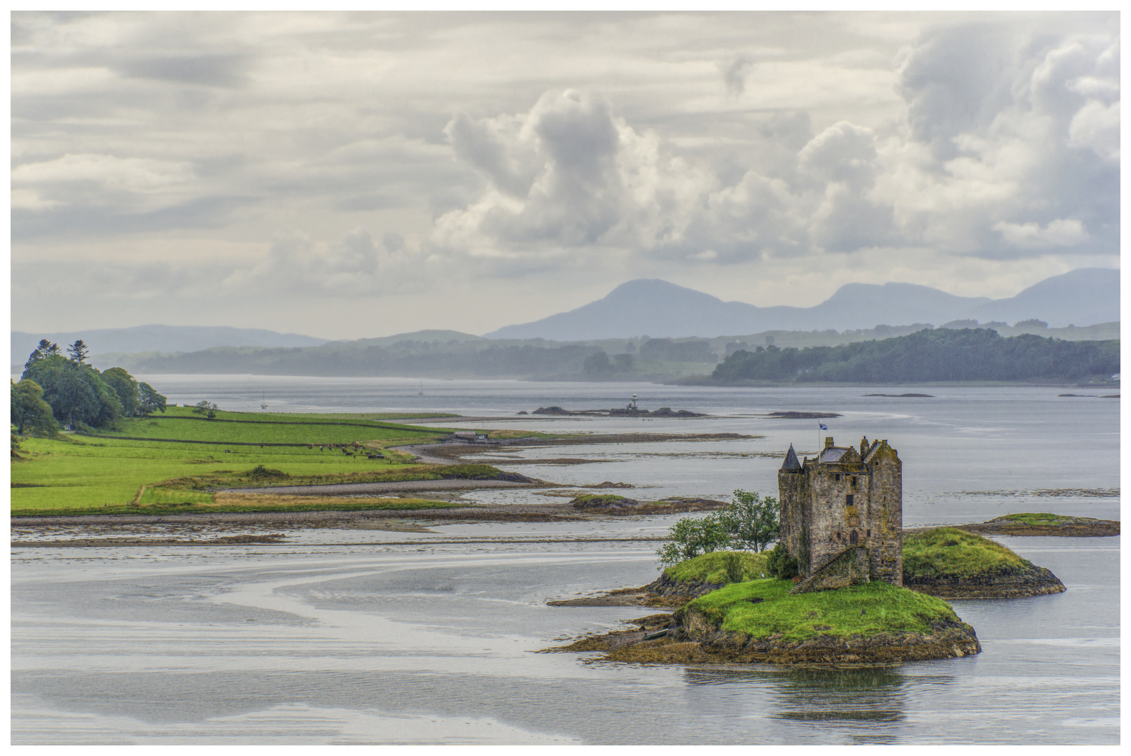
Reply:
M1053 328L1091 325L1120 318L1120 271L1083 268L1035 284L1015 297L962 297L915 284L846 284L813 307L758 307L723 302L658 279L621 284L577 310L507 325L490 339L584 339L699 336L769 330L862 329L879 324L942 323L961 319L1016 322L1037 318Z

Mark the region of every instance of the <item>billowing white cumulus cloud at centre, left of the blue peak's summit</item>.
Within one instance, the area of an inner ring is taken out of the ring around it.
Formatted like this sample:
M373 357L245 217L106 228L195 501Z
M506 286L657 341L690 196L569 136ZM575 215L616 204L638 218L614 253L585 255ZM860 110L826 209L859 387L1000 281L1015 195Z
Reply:
M489 182L473 205L437 220L435 243L455 252L647 249L681 238L689 200L711 182L592 93L547 92L523 115L458 115L446 132Z

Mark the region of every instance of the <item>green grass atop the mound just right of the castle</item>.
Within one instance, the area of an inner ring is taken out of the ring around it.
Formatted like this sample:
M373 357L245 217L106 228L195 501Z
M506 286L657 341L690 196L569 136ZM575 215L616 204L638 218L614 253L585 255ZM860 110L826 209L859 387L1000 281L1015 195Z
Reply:
M1001 544L957 528L904 533L905 580L939 575L993 575L1028 564Z

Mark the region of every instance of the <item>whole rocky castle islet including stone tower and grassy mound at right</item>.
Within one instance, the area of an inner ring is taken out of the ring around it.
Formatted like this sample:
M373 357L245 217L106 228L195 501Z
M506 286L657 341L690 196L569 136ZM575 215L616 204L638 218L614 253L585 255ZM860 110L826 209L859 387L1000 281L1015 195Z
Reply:
M771 555L711 551L639 589L554 606L675 609L636 629L547 651L601 651L637 663L875 666L982 651L943 598L1057 593L1063 583L1004 546L955 528L904 533L901 463L887 441L793 446L778 472L780 536ZM792 579L787 575L795 575Z

